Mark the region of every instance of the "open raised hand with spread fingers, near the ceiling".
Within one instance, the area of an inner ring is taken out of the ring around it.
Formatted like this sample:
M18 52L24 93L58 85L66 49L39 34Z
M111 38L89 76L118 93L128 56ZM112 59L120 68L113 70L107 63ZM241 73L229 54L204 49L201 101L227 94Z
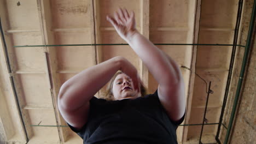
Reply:
M107 15L107 20L114 26L121 38L127 41L136 30L135 14L134 12L129 15L126 9L118 9L114 13L114 18Z

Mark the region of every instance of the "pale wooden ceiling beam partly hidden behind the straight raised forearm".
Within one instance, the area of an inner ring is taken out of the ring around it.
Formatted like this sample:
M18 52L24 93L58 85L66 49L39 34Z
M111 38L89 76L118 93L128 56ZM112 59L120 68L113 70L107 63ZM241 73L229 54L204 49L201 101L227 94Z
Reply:
M149 39L149 0L141 0L141 33ZM148 88L148 69L146 65L139 61L140 76L144 85Z

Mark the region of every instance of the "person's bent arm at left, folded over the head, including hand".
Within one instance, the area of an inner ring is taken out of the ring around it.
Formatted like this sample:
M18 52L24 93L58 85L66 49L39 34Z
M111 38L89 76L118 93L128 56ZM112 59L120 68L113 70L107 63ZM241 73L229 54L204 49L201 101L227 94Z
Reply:
M138 90L137 70L123 57L114 57L94 65L63 83L58 96L58 106L62 117L74 128L80 129L87 122L89 100L112 78L122 70L129 75Z

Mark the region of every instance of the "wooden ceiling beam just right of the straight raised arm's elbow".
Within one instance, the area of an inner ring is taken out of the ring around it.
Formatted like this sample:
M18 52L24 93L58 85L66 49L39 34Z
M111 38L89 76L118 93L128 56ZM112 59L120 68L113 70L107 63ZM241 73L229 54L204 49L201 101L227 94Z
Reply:
M194 34L193 36L193 43L197 44L198 39L199 39L199 25L200 25L200 15L201 15L201 0L195 0L195 13L194 13L194 27L192 33ZM190 118L190 111L191 111L191 105L192 105L192 98L193 98L193 91L194 91L194 81L195 81L195 64L196 64L196 53L197 53L197 46L193 46L193 51L191 53L191 63L190 63L190 77L189 77L189 85L188 85L188 93L187 93L187 111L184 119L184 123L188 124L189 123L189 118ZM189 127L184 127L183 129L183 137L182 137L182 142L187 141L188 137L188 128Z

